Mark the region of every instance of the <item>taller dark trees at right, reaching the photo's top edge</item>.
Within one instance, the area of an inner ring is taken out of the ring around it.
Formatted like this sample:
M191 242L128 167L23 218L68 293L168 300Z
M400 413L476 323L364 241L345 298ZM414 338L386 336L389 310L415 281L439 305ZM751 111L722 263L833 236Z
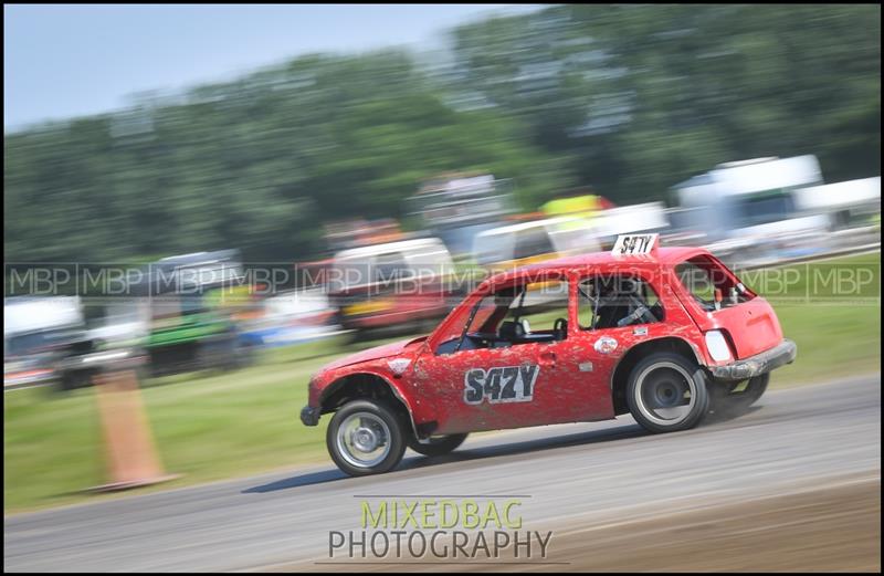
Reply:
M881 174L881 7L573 4L454 33L461 98L522 116L580 184L662 199L723 161Z

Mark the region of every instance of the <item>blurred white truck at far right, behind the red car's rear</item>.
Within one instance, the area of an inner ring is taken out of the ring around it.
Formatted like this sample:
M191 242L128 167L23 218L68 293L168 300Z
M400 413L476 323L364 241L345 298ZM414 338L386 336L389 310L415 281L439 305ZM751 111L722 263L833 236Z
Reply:
M744 265L861 243L851 214L881 211L880 179L823 185L813 155L724 163L673 191L677 239Z

